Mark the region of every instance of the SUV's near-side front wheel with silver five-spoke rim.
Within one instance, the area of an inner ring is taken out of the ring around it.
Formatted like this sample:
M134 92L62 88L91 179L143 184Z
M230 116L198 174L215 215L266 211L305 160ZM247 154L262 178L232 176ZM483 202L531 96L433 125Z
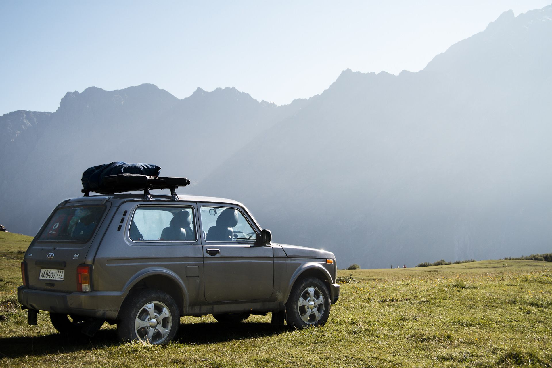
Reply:
M317 278L295 282L285 303L285 320L294 328L323 326L330 316L330 291Z

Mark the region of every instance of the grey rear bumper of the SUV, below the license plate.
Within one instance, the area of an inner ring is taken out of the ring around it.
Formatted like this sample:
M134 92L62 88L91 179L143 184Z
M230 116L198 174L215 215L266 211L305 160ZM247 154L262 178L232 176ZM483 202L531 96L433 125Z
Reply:
M78 314L115 319L128 291L56 292L19 286L17 298L25 307L38 311Z

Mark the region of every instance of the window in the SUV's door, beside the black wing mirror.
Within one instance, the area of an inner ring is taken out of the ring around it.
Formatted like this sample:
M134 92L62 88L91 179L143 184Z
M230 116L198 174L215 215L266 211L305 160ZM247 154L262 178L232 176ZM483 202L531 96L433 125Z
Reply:
M257 235L243 214L231 208L201 207L201 226L207 242L254 242Z

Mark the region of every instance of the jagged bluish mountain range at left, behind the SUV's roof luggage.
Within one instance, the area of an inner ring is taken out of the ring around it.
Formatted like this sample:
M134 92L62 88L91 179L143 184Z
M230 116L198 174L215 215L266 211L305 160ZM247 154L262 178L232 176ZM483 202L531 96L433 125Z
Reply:
M149 162L164 175L198 180L305 103L259 103L235 88L198 89L179 100L142 84L67 93L55 113L3 115L2 224L33 235L57 203L81 195L82 172L97 164Z

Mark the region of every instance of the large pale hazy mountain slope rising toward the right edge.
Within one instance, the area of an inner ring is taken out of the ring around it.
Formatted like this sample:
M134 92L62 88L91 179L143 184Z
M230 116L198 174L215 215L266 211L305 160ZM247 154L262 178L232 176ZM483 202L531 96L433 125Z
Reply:
M507 12L418 73L343 72L197 192L341 266L549 251L551 10Z

